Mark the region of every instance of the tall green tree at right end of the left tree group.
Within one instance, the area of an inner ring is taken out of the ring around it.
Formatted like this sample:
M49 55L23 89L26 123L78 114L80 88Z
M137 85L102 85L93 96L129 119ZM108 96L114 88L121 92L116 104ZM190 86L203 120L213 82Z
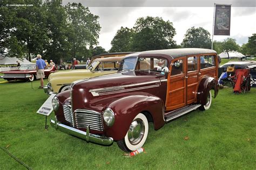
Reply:
M100 25L98 16L93 15L89 8L85 8L81 3L68 3L65 6L68 22L68 42L71 45L71 57L85 52L86 46L98 44Z

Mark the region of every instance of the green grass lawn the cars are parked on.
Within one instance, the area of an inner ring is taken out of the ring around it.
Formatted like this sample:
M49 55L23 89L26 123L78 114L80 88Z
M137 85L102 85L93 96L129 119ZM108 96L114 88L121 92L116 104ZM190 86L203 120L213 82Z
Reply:
M44 130L45 117L36 111L48 97L38 86L38 80L33 82L34 89L31 83L0 83L0 147L32 169L256 167L256 88L239 95L231 89L220 90L210 110L191 112L158 131L151 123L146 153L125 158L116 142L106 147L52 127ZM0 169L25 168L0 149Z

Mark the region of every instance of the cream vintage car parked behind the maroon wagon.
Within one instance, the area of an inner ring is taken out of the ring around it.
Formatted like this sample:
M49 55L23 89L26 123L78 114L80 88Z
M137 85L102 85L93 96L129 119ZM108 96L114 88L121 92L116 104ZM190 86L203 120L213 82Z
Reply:
M48 95L70 89L73 81L116 73L123 57L96 58L89 69L59 71L50 74L44 92Z

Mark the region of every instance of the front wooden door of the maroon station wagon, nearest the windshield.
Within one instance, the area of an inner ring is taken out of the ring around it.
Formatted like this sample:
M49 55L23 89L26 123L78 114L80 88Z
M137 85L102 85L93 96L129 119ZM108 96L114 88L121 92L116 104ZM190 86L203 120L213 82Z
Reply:
M167 111L186 106L186 58L173 59L167 79L165 109Z

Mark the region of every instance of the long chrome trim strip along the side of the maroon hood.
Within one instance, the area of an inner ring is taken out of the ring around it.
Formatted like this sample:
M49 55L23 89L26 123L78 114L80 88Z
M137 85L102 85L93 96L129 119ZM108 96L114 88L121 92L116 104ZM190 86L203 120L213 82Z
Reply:
M92 90L89 90L89 92L91 92L93 96L99 96L100 91L109 91L109 90L110 91L117 91L117 90L123 89L125 87L140 86L140 85L152 84L152 83L160 83L160 80L149 81L149 82L145 82L145 83L129 84L129 85L123 85L123 86L114 86L114 87L105 87L105 88L100 88L100 89L92 89Z

